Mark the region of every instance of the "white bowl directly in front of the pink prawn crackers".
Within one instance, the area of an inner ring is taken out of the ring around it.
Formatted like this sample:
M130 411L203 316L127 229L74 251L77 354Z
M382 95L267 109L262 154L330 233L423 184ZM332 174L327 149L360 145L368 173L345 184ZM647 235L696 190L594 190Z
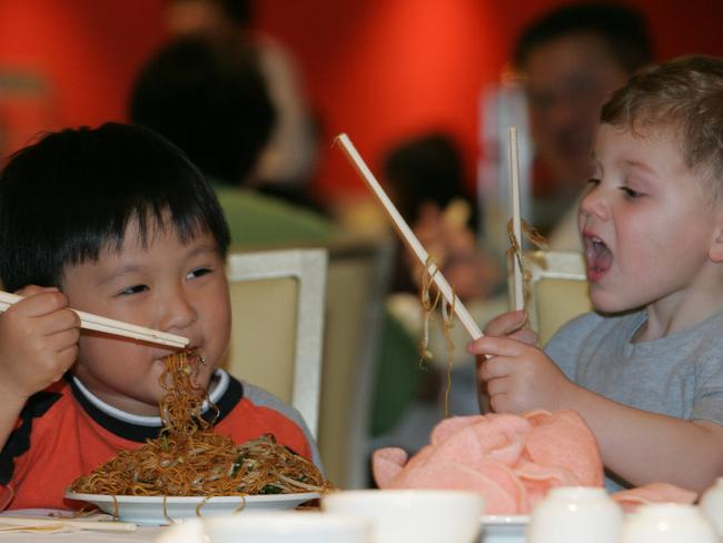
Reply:
M321 509L372 523L374 543L471 543L479 536L481 494L447 490L363 490L324 494Z

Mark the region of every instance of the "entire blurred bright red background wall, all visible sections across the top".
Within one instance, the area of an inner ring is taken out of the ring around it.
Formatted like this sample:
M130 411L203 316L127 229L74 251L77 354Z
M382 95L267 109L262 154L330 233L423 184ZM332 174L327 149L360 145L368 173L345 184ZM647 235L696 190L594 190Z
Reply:
M325 141L347 132L373 169L399 138L449 130L468 171L477 156L477 99L498 78L514 36L559 0L257 0L258 27L296 57ZM658 57L723 56L723 2L631 0L651 22ZM6 150L39 128L122 120L133 75L165 39L164 0L0 0L0 78L40 75L38 98L0 85ZM28 105L30 100L30 106ZM323 146L325 199L365 189Z

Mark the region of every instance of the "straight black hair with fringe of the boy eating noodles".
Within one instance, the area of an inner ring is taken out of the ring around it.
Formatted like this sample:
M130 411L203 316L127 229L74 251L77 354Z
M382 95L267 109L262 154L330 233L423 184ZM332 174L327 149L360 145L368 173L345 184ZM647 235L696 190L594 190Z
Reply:
M49 134L0 174L0 279L8 290L60 287L66 266L119 250L132 219L143 245L155 226L172 226L181 243L200 229L228 249L212 188L162 137L117 122Z

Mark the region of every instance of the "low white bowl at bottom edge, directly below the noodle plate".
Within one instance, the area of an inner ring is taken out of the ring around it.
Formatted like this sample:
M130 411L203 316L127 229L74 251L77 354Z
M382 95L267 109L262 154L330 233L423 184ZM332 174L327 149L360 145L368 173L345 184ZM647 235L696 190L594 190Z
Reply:
M208 543L370 543L369 523L320 512L258 512L204 521Z

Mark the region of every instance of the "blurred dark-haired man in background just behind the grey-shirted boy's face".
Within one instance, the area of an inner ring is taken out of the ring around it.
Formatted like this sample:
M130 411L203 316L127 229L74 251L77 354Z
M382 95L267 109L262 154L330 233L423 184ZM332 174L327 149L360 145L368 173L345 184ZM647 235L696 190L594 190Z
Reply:
M618 3L571 3L533 21L514 47L534 148L532 214L549 247L580 250L577 201L592 174L602 105L653 59L645 21Z

